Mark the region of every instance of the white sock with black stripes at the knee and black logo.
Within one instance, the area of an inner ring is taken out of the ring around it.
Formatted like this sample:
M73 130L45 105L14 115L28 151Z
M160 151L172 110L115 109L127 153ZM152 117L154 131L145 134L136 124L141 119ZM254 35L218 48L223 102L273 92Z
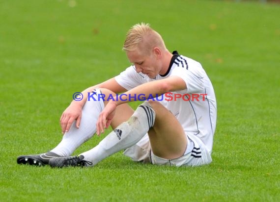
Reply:
M92 166L96 165L113 153L135 145L154 125L154 122L155 111L148 102L144 102L128 121L117 126L96 147L81 155L84 155L84 160L92 162Z

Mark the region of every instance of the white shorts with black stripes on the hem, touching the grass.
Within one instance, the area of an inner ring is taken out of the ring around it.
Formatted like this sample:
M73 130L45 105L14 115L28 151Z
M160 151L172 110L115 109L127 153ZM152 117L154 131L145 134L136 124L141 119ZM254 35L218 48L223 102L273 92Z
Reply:
M179 158L166 159L156 156L151 150L148 134L146 134L136 145L126 149L124 155L132 158L134 161L178 167L201 166L212 162L210 152L198 137L186 134L186 138L188 138L187 149L184 155Z

